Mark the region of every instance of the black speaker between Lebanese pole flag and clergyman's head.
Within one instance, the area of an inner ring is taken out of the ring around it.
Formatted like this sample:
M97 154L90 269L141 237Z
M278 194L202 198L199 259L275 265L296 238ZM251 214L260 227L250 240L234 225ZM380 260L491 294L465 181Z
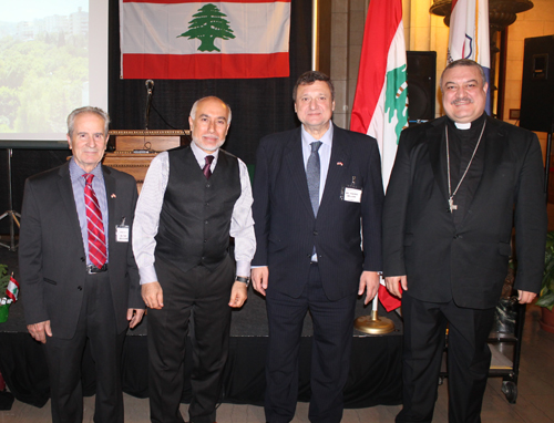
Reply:
M408 122L434 118L437 52L407 51Z

